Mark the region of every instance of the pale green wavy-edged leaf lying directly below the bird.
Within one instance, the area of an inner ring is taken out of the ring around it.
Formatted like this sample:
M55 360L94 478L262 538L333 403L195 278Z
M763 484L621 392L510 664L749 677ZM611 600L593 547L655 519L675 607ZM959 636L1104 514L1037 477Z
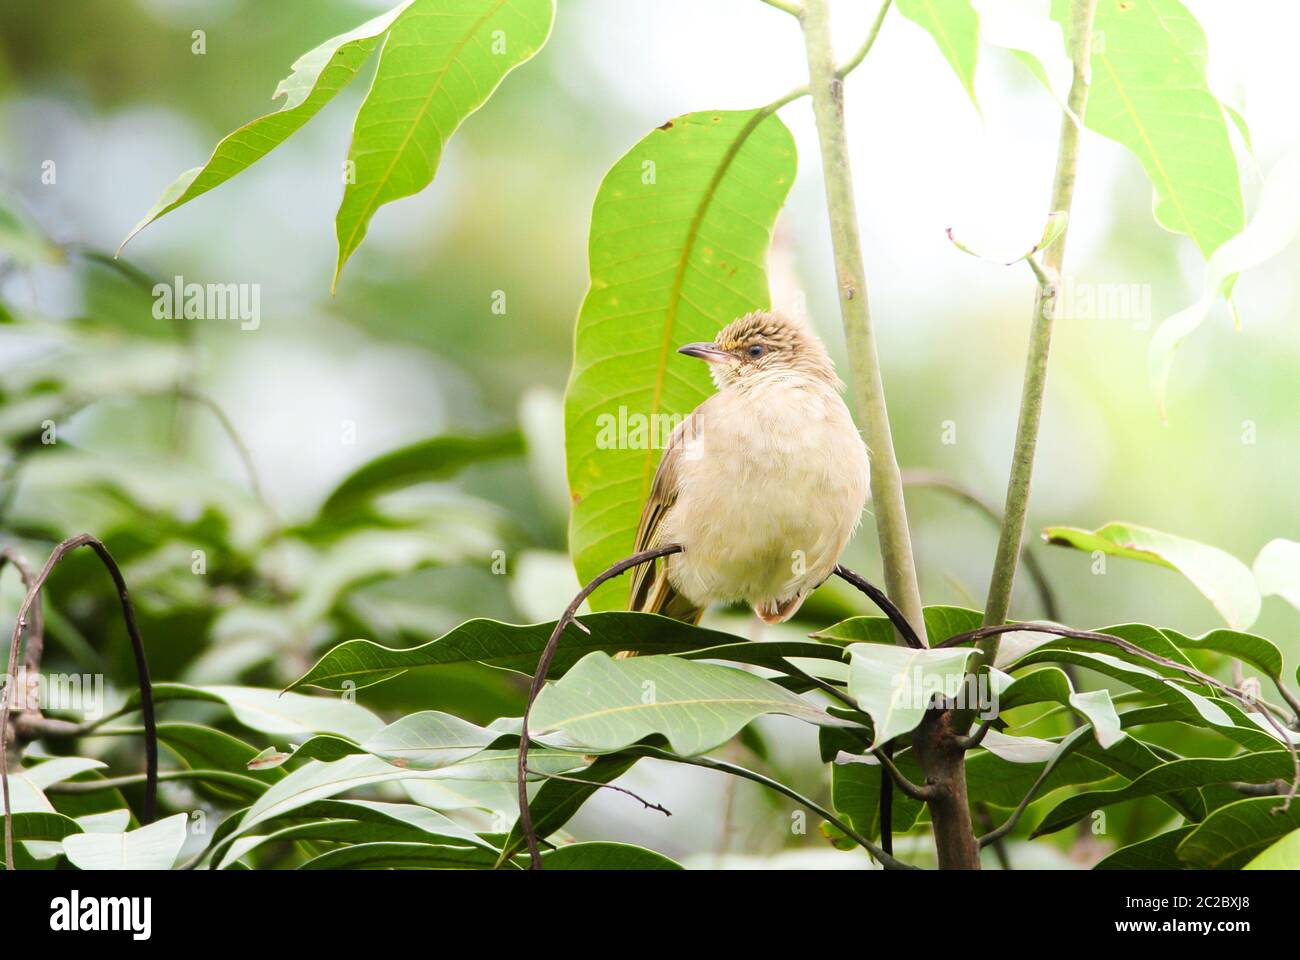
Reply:
M689 757L725 743L767 713L852 726L744 670L676 657L614 660L590 653L537 697L532 730L563 731L601 752L662 734L675 753Z

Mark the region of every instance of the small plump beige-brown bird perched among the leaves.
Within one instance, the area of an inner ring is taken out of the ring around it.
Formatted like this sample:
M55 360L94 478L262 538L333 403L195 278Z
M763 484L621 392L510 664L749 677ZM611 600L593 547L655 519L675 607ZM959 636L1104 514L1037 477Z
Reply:
M768 311L677 353L718 389L664 446L636 549L681 552L637 567L628 609L698 623L744 601L783 623L832 574L870 494L844 384L807 325Z

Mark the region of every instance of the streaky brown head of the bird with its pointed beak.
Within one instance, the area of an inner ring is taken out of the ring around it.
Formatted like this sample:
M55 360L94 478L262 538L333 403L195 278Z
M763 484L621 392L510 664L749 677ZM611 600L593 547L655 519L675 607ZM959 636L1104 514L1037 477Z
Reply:
M679 354L708 364L718 389L774 380L807 380L841 388L826 347L807 327L757 310L727 324L712 341L686 343Z

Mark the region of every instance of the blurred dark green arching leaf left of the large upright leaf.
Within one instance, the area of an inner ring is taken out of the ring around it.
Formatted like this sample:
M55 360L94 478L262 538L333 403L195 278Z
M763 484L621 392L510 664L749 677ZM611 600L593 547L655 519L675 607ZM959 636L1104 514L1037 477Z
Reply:
M524 450L517 431L477 437L438 436L376 457L352 471L326 497L317 523L330 523L359 503L399 487L443 480L471 463L515 457Z

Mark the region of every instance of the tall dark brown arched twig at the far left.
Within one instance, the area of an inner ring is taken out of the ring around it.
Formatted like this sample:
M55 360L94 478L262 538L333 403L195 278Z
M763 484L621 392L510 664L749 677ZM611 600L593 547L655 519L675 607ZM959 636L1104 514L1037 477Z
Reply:
M150 683L150 665L144 657L144 640L140 637L140 628L135 622L135 607L131 606L131 597L126 589L126 580L122 579L122 571L118 568L117 562L113 555L108 552L96 537L90 533L79 533L74 537L69 537L64 542L58 544L49 554L49 559L46 561L46 566L42 567L40 574L36 575L31 587L27 589L27 596L23 597L22 606L18 607L18 617L13 624L13 636L9 643L10 663L17 656L18 644L22 639L23 628L27 623L27 618L31 613L32 606L40 598L40 589L46 585L46 580L49 579L49 574L53 571L55 566L66 557L69 553L75 550L78 546L88 546L100 558L104 566L108 568L109 576L113 579L113 585L117 588L117 597L122 605L122 620L126 624L126 635L131 640L131 650L135 654L135 674L140 688L140 713L144 722L144 766L146 766L146 786L144 786L144 812L140 817L142 823L153 822L153 810L157 805L157 788L159 788L159 743L157 743L157 727L153 721L153 686ZM4 688L4 695L0 697L0 718L8 719L9 717L9 702L13 692L13 684L6 683ZM0 738L3 739L3 738ZM5 855L6 865L12 870L13 865L13 812L9 807L9 751L0 749L0 784L3 784L4 792L4 834L5 834Z

